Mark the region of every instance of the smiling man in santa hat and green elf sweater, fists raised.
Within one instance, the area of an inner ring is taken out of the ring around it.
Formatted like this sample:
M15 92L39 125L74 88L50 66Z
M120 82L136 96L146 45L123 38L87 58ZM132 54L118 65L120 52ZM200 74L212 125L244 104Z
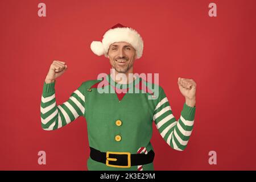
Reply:
M116 24L105 32L102 42L92 42L90 48L96 55L108 57L111 73L83 82L68 101L56 106L55 79L67 64L53 61L43 86L42 128L56 130L80 116L86 118L89 170L154 170L152 121L169 146L183 151L195 118L195 81L178 78L185 103L176 120L163 88L132 74L134 60L143 52L137 31ZM150 88L158 88L157 96Z

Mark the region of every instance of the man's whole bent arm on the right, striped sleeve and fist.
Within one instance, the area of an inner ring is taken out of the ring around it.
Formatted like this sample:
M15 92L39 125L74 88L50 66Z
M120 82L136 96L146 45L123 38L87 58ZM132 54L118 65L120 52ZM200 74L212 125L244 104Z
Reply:
M161 88L153 120L168 145L175 150L183 151L187 147L194 125L196 83L190 79L179 78L178 85L181 94L185 97L180 118L177 120L172 114L170 103Z

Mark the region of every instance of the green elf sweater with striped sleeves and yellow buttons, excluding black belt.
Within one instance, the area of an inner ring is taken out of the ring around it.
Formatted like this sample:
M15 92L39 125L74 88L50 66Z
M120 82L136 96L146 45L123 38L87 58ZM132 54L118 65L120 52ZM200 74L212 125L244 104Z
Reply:
M137 78L130 84L117 84L110 75L107 75L101 80L83 82L71 94L69 100L60 106L54 106L54 86L55 82L44 83L42 97L44 101L41 102L41 108L52 106L48 110L41 111L42 127L45 130L59 129L82 116L87 122L90 147L102 152L137 154L141 147L146 147L147 151L153 150L150 139L154 121L159 133L172 148L182 151L187 146L193 128L195 107L184 104L181 117L176 120L172 115L166 94L158 85L150 84L142 78ZM121 90L125 93L116 93ZM52 117L54 113L60 116L56 115L54 118ZM51 119L47 119L50 115ZM89 170L137 170L138 168L137 166L109 167L90 157L87 165ZM153 163L143 165L143 170L154 170Z

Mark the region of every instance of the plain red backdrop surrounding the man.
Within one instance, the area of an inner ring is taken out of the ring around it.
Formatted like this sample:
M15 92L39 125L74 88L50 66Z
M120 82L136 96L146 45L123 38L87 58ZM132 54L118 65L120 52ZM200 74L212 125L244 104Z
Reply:
M38 4L46 3L46 17ZM217 17L208 5L217 5ZM185 151L173 150L156 127L155 170L256 169L255 1L1 1L0 169L86 170L89 146L80 117L56 131L40 126L43 81L52 60L68 71L56 81L57 104L81 82L109 73L93 40L116 23L144 40L138 73L159 73L176 118L184 104L177 78L197 83L195 127ZM38 151L46 151L46 165ZM209 151L217 164L208 163Z

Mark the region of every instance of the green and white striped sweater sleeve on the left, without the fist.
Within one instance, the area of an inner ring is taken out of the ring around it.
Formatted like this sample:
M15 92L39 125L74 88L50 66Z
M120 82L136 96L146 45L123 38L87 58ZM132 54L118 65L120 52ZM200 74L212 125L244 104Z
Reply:
M41 99L41 123L44 130L56 130L84 115L85 97L80 86L61 105L56 105L55 82L44 82Z

